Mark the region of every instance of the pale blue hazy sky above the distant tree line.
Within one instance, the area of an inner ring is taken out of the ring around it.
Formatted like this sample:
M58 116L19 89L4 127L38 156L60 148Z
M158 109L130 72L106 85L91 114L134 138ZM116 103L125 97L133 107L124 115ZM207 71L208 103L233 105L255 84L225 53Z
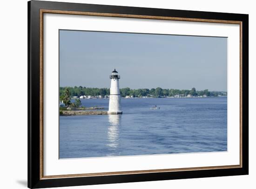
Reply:
M60 30L60 86L227 91L227 38Z

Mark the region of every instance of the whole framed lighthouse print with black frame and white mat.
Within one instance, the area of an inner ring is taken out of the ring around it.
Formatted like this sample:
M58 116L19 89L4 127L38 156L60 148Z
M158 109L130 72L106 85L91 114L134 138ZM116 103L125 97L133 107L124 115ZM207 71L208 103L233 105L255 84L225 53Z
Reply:
M246 14L28 2L28 187L246 175Z

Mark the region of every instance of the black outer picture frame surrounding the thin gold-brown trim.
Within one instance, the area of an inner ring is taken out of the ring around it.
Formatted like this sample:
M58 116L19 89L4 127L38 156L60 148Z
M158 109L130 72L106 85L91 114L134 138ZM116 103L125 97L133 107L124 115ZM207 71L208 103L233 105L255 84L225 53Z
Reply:
M249 174L249 15L213 13L200 11L168 10L128 6L106 6L50 1L29 1L28 8L28 187L47 188L107 183L128 183L212 176L235 176ZM190 19L214 19L242 22L242 166L229 169L180 170L110 176L82 176L67 178L41 178L40 176L40 10L78 11L91 13L115 13Z

